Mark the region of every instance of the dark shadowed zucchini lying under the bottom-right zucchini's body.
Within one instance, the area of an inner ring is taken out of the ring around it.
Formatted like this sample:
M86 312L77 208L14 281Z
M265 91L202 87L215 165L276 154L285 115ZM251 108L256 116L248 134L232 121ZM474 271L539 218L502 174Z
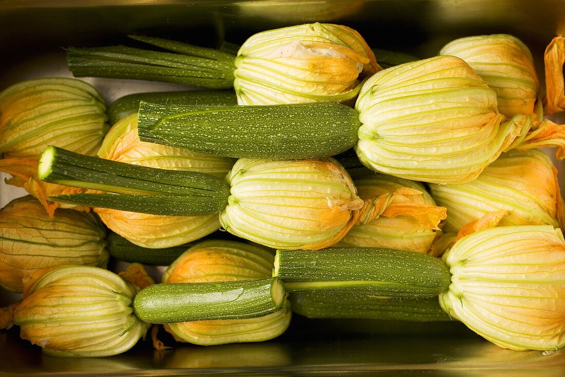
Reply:
M367 318L432 322L451 320L437 297L396 298L336 292L290 294L294 313L307 318Z

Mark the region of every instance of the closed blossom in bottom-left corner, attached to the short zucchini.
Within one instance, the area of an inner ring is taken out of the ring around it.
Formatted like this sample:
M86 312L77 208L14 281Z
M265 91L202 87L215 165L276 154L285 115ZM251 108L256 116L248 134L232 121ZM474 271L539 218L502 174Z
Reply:
M89 266L38 270L25 282L14 323L51 356L101 357L127 351L149 324L133 314L139 288Z

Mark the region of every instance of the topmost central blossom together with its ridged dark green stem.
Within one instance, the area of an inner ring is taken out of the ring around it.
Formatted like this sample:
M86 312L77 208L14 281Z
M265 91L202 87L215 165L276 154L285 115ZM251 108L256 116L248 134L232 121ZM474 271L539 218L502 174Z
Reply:
M131 38L167 52L70 48L69 69L75 76L234 88L240 105L350 101L364 77L380 70L363 37L342 25L314 23L257 33L237 57L162 38Z

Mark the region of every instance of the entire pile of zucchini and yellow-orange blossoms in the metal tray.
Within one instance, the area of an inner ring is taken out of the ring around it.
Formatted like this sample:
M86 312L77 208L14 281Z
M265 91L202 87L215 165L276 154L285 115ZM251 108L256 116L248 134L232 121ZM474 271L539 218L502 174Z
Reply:
M157 349L161 324L180 342L264 341L293 311L565 345L564 202L537 150L565 158L565 125L544 118L565 108L565 38L545 93L506 34L428 59L320 23L237 54L133 38L157 49L72 47L69 69L215 90L108 107L78 79L0 93L0 171L30 194L0 210L0 285L23 292L0 328L67 357L125 352L152 324ZM114 274L110 256L132 264ZM140 263L168 266L161 283Z

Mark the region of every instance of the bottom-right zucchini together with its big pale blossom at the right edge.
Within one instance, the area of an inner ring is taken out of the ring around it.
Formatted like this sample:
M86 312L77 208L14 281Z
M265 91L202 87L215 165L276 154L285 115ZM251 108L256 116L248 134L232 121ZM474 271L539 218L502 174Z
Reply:
M471 233L443 262L391 249L277 250L275 275L291 293L413 298L435 289L450 317L503 348L565 345L565 240L551 226Z

